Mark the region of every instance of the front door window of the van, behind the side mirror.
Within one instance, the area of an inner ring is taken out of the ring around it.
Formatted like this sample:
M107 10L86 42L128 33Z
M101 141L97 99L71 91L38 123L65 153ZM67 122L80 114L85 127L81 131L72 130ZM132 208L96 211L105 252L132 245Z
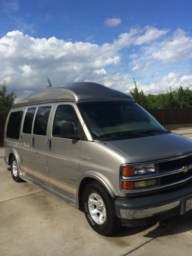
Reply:
M57 107L53 123L53 137L62 137L60 135L60 127L65 122L71 122L74 127L74 134L78 133L79 119L72 105L59 105Z

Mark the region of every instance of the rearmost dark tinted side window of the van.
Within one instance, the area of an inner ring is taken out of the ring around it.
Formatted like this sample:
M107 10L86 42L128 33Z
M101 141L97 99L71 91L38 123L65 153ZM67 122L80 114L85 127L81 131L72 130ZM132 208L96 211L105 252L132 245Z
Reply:
M7 125L7 137L17 139L20 133L20 124L22 122L23 111L12 112L9 116Z

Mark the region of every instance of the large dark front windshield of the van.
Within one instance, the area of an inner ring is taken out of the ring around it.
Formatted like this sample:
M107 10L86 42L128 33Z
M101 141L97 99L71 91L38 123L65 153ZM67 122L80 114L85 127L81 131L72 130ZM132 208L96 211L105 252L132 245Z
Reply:
M166 132L151 114L134 102L94 101L78 103L78 106L93 139L116 140L148 136L152 131Z

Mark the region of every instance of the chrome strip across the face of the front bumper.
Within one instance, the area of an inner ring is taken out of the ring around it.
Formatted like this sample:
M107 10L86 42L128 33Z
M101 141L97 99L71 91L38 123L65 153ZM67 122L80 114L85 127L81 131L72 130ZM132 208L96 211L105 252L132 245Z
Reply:
M163 211L168 211L171 209L176 208L177 206L180 205L180 201L176 201L173 203L169 204L164 204L148 209L120 209L120 215L122 219L142 219L142 218L147 218L151 217L155 214L160 214Z

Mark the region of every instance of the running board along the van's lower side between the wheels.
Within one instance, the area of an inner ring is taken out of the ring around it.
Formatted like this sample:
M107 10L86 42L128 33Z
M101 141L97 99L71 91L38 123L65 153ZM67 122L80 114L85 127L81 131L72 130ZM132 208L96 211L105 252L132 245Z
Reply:
M56 188L55 186L50 185L49 183L39 180L34 176L29 174L22 175L22 179L29 182L30 184L35 185L38 188L45 190L49 195L55 196L59 199L62 199L66 203L76 207L76 197L64 192L63 190Z

